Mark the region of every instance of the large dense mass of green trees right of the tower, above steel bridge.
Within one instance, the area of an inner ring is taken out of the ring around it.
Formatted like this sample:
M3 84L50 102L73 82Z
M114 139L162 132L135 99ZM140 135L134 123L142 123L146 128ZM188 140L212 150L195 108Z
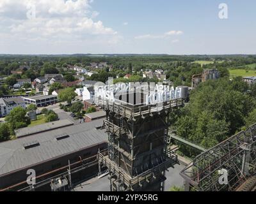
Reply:
M188 106L173 115L177 135L209 149L256 123L256 85L249 87L243 78L209 80L191 93ZM180 152L198 152L180 145Z

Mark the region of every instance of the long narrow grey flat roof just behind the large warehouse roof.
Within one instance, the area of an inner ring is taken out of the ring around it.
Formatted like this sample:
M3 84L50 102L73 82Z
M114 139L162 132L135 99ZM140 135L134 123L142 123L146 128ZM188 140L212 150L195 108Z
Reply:
M45 124L40 124L38 126L17 129L17 130L15 130L15 135L19 138L21 136L28 136L28 135L32 135L35 133L49 131L49 130L56 129L56 128L71 126L73 124L74 124L74 122L71 122L68 119L56 120L53 122L47 122Z

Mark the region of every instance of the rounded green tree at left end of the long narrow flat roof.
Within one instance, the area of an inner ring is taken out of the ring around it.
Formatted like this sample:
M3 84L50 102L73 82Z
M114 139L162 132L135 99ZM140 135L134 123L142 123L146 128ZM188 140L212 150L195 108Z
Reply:
M29 117L26 117L26 110L20 106L13 108L4 120L8 122L11 133L14 133L15 129L24 128L30 124Z

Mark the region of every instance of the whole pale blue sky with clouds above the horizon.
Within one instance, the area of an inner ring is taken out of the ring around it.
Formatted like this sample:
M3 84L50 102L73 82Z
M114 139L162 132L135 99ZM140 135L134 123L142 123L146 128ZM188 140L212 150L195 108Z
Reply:
M0 54L256 54L255 8L255 0L1 0Z

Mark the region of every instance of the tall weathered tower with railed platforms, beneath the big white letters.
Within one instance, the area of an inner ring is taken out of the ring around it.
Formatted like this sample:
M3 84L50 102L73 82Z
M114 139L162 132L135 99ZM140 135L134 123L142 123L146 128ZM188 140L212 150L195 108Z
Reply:
M134 94L141 103L115 100L102 105L109 154L99 152L99 170L108 168L111 191L163 191L165 171L177 163L166 146L168 115L183 106L184 99L145 105L143 93Z

